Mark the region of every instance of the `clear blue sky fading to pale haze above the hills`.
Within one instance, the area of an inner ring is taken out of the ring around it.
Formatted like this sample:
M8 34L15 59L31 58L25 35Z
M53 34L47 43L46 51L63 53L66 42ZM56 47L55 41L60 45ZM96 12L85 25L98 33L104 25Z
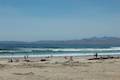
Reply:
M120 0L0 0L0 41L120 37Z

